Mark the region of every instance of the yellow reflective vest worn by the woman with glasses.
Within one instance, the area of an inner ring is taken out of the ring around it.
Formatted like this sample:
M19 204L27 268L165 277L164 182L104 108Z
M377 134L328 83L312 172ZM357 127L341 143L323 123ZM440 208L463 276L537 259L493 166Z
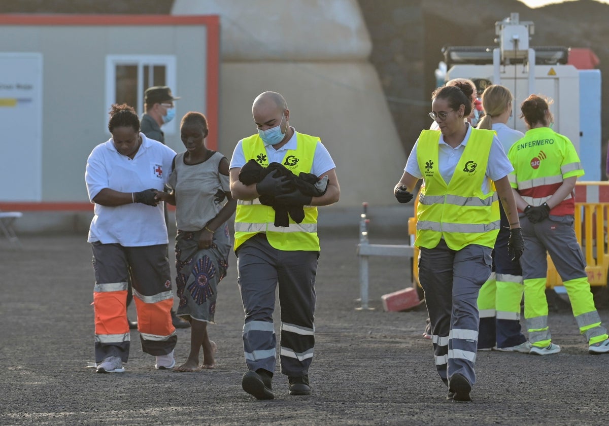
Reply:
M415 245L434 248L442 237L452 250L470 244L495 246L499 233L499 197L494 190L482 193L488 154L495 133L471 129L451 181L438 170L439 130L423 130L417 144L417 162L425 186L417 206ZM493 188L491 182L489 187Z

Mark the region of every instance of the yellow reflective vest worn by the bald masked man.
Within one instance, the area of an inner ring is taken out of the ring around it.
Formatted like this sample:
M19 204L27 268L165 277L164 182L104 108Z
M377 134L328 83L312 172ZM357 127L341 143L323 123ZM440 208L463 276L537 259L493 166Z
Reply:
M297 147L286 151L281 164L297 176L300 172L310 173L319 141L317 136L296 132ZM258 134L243 139L242 146L246 162L255 159L262 167L269 166L264 142ZM295 223L290 217L289 226L275 226L275 211L271 206L261 204L258 198L252 201L238 200L234 219L234 250L247 239L264 232L270 245L277 250L319 251L317 208L305 206L304 210L305 218L301 223Z

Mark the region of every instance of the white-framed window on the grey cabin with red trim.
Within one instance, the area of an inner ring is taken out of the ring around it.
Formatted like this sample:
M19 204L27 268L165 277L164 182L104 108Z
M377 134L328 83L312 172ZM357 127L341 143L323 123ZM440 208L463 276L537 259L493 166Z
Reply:
M108 55L106 57L106 105L113 103L133 106L141 117L144 113L144 91L152 86L175 85L175 57L171 55ZM164 124L164 133L176 132L176 120ZM107 122L104 122L107 131Z

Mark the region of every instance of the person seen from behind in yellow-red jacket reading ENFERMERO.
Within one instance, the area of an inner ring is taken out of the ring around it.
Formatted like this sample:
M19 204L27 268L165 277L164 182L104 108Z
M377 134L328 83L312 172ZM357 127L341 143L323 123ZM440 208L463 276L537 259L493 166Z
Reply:
M520 259L524 278L524 318L533 345L530 354L560 352L547 325L547 253L563 280L580 333L590 354L609 353L607 329L600 323L574 229L575 184L584 171L568 138L552 130L554 116L546 99L537 95L521 103L527 125L524 138L508 157L518 211L521 212L527 256Z

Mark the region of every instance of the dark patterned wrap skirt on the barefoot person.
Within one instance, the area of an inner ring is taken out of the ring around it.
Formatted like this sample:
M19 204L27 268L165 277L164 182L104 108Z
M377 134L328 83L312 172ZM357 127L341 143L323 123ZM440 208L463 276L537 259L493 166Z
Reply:
M231 239L224 224L214 232L211 247L200 249L201 232L178 229L175 237L175 281L180 298L177 315L213 323L217 286L227 273Z

